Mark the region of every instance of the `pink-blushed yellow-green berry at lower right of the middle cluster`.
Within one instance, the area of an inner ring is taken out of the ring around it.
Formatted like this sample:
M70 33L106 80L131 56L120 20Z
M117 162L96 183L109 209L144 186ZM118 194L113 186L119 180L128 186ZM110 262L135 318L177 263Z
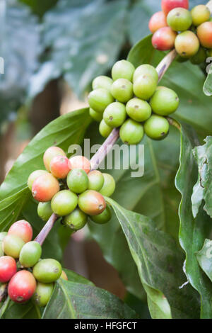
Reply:
M97 191L87 190L78 197L78 206L88 215L98 215L106 208L105 199Z

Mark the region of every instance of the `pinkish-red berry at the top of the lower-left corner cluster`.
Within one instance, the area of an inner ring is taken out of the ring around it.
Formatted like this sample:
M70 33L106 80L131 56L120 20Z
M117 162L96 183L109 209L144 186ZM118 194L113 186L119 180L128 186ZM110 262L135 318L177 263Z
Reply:
M33 228L28 221L20 220L11 225L8 235L18 236L23 239L23 242L27 243L33 238Z

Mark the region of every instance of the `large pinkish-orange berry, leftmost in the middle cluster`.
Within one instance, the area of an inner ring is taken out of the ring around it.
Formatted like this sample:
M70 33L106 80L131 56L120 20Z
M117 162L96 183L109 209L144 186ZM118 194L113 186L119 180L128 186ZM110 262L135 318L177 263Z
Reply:
M50 201L57 192L59 192L59 181L52 174L43 174L33 183L32 194L37 201Z

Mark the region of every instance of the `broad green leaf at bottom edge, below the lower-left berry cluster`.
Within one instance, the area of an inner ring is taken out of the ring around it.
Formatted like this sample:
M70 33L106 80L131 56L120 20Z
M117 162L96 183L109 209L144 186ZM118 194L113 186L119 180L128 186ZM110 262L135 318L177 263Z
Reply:
M131 319L136 312L106 290L59 279L43 319Z

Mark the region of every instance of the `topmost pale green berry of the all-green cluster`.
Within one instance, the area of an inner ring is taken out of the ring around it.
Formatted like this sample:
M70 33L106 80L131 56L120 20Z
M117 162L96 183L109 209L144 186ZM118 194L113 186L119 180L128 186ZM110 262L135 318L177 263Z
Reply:
M127 60L120 60L112 67L112 79L126 79L132 81L135 67Z

